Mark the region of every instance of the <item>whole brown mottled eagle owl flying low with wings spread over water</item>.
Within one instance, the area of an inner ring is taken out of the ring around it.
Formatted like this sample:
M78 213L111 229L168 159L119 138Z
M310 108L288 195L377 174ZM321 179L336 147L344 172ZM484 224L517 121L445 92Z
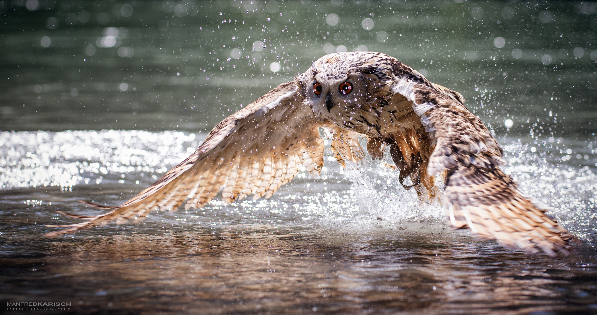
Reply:
M460 93L429 82L396 58L378 52L325 55L309 69L221 121L186 160L153 185L98 216L63 213L85 222L47 233L56 236L109 222L140 220L151 210L200 208L220 191L226 202L249 195L269 198L298 173L319 173L324 143L343 166L363 157L358 135L373 159L390 155L405 188L420 198L442 195L454 229L481 239L547 254L567 253L573 238L500 170L503 151ZM441 174L444 191L434 178ZM407 180L408 179L408 180Z

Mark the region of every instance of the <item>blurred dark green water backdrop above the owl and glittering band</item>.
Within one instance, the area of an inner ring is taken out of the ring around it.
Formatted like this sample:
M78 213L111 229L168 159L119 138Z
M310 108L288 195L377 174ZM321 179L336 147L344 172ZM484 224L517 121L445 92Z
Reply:
M2 1L0 129L208 131L322 55L368 50L463 93L496 132L594 140L596 10L532 1Z

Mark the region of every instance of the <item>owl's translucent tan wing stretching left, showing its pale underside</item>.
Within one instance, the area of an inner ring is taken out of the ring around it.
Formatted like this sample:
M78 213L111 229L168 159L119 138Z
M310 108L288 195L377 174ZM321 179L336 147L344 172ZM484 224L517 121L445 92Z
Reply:
M99 216L65 214L86 222L47 233L62 235L93 226L143 219L151 210L200 208L221 190L226 202L269 198L298 173L302 164L318 173L323 166L324 144L318 127L324 123L302 104L294 82L277 86L242 110L221 121L190 157L153 185L118 207ZM349 148L350 149L350 148ZM350 158L350 157L349 157Z

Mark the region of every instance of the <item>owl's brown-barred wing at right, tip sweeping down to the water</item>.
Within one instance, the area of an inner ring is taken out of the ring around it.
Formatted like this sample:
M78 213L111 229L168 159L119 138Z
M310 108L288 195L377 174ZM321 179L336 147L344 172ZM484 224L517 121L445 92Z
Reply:
M438 91L441 88L401 79L392 91L413 102L436 141L427 171L433 176L447 170L444 206L451 226L468 227L478 238L496 239L510 248L536 252L538 245L549 255L566 254L565 241L573 236L516 189L500 170L506 162L496 139L464 107L459 94L447 95Z

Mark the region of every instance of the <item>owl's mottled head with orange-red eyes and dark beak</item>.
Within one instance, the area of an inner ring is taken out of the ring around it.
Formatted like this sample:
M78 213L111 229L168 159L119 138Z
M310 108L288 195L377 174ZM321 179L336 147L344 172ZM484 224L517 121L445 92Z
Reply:
M319 117L338 116L343 111L379 102L391 95L396 81L396 58L379 52L337 52L315 61L295 77L303 101ZM409 68L410 73L417 71ZM424 80L423 76L416 81Z

